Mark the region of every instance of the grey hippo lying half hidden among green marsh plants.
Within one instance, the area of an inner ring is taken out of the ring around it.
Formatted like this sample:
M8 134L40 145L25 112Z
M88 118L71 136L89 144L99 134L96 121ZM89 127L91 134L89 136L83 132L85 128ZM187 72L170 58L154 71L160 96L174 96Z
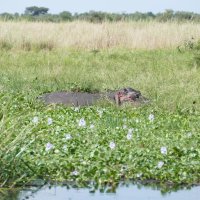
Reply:
M64 104L67 106L90 106L100 100L110 100L118 106L125 102L130 102L133 105L148 103L149 100L143 97L141 92L132 88L123 88L118 91L107 93L87 93L87 92L52 92L46 93L38 97L45 104Z

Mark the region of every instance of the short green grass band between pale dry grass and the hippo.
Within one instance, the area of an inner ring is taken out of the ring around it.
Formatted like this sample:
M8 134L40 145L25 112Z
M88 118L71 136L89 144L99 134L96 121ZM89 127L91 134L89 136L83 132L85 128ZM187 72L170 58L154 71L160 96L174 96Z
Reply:
M199 110L200 69L192 59L191 52L176 50L1 51L0 89L34 101L47 91L130 86L162 109Z

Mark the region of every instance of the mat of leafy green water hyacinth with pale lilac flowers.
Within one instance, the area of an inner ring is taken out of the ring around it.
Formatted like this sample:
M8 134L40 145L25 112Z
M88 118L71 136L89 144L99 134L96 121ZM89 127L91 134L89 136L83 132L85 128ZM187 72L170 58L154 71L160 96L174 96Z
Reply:
M7 130L8 121L1 124L2 183L7 176L19 180L16 184L41 176L46 180L93 180L98 184L118 182L122 177L173 183L193 183L200 178L199 123L194 115L169 115L156 110L157 120L149 123L148 107L106 107L101 118L98 106L79 108L79 112L62 106L36 108L41 111L37 117L31 114L32 107L7 107L13 126ZM15 121L15 116L20 118ZM11 135L6 134L11 130ZM7 168L15 169L16 165L17 173L13 170L8 174ZM26 176L19 179L24 171Z

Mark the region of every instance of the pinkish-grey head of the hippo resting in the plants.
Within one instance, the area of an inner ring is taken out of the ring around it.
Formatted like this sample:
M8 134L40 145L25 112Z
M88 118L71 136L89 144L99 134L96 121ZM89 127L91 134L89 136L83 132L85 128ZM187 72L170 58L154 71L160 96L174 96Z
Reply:
M115 94L115 101L117 105L122 105L125 102L134 104L148 103L149 100L142 96L141 92L132 88L124 88Z

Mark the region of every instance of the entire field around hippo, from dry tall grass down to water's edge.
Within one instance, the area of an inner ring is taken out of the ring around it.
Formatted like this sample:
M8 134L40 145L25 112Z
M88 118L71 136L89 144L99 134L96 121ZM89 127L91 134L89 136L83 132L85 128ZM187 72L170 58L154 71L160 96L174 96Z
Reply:
M0 22L0 186L38 178L199 183L200 68L185 42L198 40L199 29ZM74 109L36 100L123 87L151 104Z

